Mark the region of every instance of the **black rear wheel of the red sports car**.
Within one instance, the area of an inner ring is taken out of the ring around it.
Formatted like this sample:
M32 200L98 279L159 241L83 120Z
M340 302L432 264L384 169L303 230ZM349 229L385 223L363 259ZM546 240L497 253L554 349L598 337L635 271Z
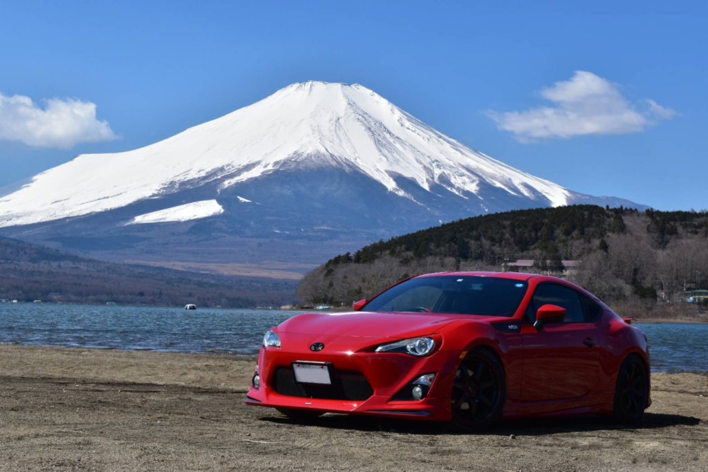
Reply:
M641 420L649 401L649 376L644 361L636 354L630 354L622 362L617 374L615 387L615 421L633 424Z

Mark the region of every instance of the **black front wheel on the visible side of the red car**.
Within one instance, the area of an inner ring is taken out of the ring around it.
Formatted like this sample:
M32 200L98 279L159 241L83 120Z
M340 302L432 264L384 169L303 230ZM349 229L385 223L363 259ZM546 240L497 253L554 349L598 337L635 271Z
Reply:
M505 401L501 362L486 349L469 352L452 381L452 425L464 432L485 430L501 417Z

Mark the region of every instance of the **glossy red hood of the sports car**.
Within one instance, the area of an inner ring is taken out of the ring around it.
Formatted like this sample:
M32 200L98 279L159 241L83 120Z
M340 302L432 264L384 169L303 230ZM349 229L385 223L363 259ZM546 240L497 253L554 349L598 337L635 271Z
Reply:
M406 338L437 333L443 326L462 318L439 313L304 313L278 326L280 333L360 336L365 338ZM470 319L470 316L464 316ZM476 318L476 317L475 317Z

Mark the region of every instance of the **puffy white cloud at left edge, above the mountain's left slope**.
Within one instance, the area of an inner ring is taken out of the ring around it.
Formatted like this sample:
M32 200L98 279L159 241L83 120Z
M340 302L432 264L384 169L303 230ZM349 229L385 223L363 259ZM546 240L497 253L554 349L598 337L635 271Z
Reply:
M115 139L108 122L96 120L96 104L76 98L42 100L0 93L0 140L68 149L80 142Z

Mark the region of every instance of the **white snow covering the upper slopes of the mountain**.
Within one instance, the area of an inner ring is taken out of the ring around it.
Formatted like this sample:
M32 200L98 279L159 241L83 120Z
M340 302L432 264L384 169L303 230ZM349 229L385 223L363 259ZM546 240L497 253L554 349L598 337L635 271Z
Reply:
M360 173L389 194L420 205L425 204L416 197L419 190L476 197L476 214L488 211L489 189L501 195L497 201L520 198L537 207L586 197L469 149L364 86L310 81L161 142L83 154L35 175L0 198L0 226L79 217L209 187L208 205L200 195L193 206L139 214L132 222L203 218L236 185L278 171L327 168Z

